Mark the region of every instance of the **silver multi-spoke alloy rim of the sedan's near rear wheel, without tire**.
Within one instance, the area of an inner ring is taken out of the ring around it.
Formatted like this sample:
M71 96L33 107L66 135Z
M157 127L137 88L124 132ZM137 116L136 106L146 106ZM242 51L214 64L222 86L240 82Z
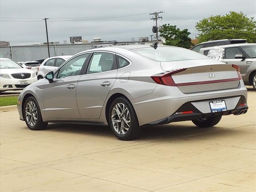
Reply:
M123 103L117 103L112 109L111 120L114 130L118 134L126 134L130 128L131 122L130 112L127 106Z

